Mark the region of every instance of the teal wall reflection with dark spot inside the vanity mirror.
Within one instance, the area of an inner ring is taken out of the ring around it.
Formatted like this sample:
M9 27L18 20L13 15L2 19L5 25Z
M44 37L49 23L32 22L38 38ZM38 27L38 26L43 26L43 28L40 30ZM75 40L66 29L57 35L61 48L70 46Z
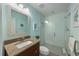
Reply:
M16 33L27 33L28 17L14 10L11 10L11 16L14 19Z

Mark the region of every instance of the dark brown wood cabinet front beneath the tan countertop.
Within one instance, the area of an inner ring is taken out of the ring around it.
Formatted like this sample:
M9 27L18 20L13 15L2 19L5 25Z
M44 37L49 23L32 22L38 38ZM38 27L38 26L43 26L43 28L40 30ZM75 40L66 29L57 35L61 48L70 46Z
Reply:
M16 56L39 56L39 42L17 54Z

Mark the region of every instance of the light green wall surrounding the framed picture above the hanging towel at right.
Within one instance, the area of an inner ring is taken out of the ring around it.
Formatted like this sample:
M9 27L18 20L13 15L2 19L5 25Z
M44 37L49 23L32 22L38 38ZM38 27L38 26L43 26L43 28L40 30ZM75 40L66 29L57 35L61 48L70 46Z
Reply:
M77 7L79 7L78 4L73 4L72 3L72 4L70 4L70 8L69 8L68 11L70 12L70 19L69 19L69 21L70 21L70 24L69 24L70 34L73 35L74 38L78 39L78 35L79 35L78 29L79 28L74 27L74 12L75 12Z

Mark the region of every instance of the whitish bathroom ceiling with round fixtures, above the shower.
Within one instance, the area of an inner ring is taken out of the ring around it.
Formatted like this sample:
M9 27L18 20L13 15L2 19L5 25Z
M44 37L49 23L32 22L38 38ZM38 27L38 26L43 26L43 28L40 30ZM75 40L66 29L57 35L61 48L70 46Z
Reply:
M31 5L47 16L51 13L60 13L68 10L69 3L31 3Z

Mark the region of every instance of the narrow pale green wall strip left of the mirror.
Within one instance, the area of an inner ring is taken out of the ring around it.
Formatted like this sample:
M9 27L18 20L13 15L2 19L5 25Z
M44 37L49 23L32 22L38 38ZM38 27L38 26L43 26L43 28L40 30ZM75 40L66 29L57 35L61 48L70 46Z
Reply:
M3 47L3 41L7 39L7 19L8 19L8 9L6 4L2 4L2 47ZM0 46L0 47L1 47ZM3 48L1 51L1 55L3 54Z

